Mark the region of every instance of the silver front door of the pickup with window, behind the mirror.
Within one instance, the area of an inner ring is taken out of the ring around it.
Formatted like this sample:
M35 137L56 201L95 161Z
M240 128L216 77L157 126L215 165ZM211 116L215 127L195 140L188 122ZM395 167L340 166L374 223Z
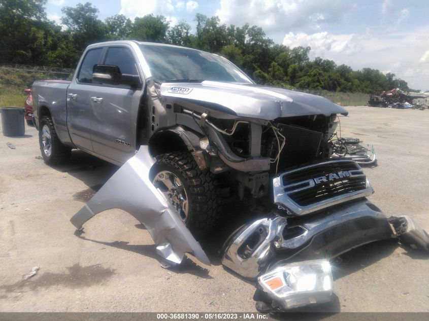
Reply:
M136 61L133 49L118 45L107 48L103 64L118 66L122 74L139 76ZM94 88L91 138L96 154L118 163L134 156L141 87L103 84Z

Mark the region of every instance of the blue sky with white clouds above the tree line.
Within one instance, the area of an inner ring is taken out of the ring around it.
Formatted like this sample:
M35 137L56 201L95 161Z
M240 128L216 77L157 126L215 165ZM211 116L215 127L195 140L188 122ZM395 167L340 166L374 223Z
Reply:
M353 69L394 73L413 89L429 90L428 0L92 0L98 18L121 13L130 19L163 15L170 25L196 13L221 23L262 27L289 47L310 46L311 57L332 59ZM60 23L61 8L76 0L48 0L48 19Z

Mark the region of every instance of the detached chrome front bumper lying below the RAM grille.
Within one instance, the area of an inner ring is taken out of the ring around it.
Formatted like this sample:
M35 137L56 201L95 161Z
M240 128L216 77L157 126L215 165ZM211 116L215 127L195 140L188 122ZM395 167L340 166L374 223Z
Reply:
M387 217L366 199L298 218L273 212L228 239L222 264L243 277L256 278L273 265L332 259L392 235Z

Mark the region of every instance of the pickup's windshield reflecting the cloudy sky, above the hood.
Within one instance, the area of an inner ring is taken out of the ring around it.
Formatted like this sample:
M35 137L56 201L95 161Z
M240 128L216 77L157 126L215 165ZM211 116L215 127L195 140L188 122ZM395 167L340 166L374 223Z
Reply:
M224 81L253 84L228 60L204 51L182 47L139 45L152 76L166 81Z

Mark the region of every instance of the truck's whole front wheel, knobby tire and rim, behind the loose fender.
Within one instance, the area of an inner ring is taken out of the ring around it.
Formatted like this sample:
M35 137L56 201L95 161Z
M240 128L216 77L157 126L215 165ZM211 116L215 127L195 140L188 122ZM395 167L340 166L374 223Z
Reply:
M197 166L191 153L157 156L151 180L194 236L203 236L217 224L222 207L219 182L209 170Z

